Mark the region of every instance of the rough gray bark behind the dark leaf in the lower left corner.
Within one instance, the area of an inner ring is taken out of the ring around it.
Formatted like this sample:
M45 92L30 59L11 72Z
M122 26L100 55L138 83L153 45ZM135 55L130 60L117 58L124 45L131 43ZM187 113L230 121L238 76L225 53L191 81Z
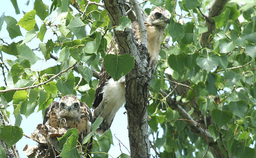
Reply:
M2 111L0 111L0 122L1 125L8 125L4 120L4 115ZM8 150L7 144L0 138L0 145L5 149L5 158L20 158L16 145L12 145L12 147Z

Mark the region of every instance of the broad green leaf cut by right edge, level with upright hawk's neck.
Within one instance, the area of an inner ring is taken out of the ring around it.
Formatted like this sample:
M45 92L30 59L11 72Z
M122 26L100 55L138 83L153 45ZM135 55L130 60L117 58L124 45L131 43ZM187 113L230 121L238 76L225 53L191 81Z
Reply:
M245 25L244 31L241 34L241 38L248 42L255 43L256 41L256 28L254 22L250 22Z

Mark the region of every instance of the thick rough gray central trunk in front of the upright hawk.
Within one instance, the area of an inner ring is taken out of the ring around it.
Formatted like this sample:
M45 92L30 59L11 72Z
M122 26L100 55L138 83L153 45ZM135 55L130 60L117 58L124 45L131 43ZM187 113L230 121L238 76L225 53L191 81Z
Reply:
M110 22L119 25L120 18L125 16L122 0L104 0ZM135 66L125 76L125 98L128 117L128 132L132 158L149 158L150 146L148 140L148 86L147 70L148 49L144 45L137 48L132 36L132 30L114 30L116 42L121 54L131 54L135 58Z

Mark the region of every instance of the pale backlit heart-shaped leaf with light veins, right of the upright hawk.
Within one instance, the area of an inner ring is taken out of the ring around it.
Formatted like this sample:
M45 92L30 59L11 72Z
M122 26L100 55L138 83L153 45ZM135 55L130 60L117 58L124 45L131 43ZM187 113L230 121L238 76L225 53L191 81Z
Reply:
M219 56L217 54L213 54L211 56L198 56L196 58L196 64L200 66L200 68L205 69L207 72L210 72L212 68L218 65L219 63Z

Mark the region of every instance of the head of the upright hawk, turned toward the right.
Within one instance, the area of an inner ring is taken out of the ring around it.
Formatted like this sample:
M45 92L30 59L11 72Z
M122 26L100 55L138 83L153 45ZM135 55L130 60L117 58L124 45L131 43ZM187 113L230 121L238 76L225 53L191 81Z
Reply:
M171 13L163 7L155 7L148 16L148 23L166 29L170 24Z

